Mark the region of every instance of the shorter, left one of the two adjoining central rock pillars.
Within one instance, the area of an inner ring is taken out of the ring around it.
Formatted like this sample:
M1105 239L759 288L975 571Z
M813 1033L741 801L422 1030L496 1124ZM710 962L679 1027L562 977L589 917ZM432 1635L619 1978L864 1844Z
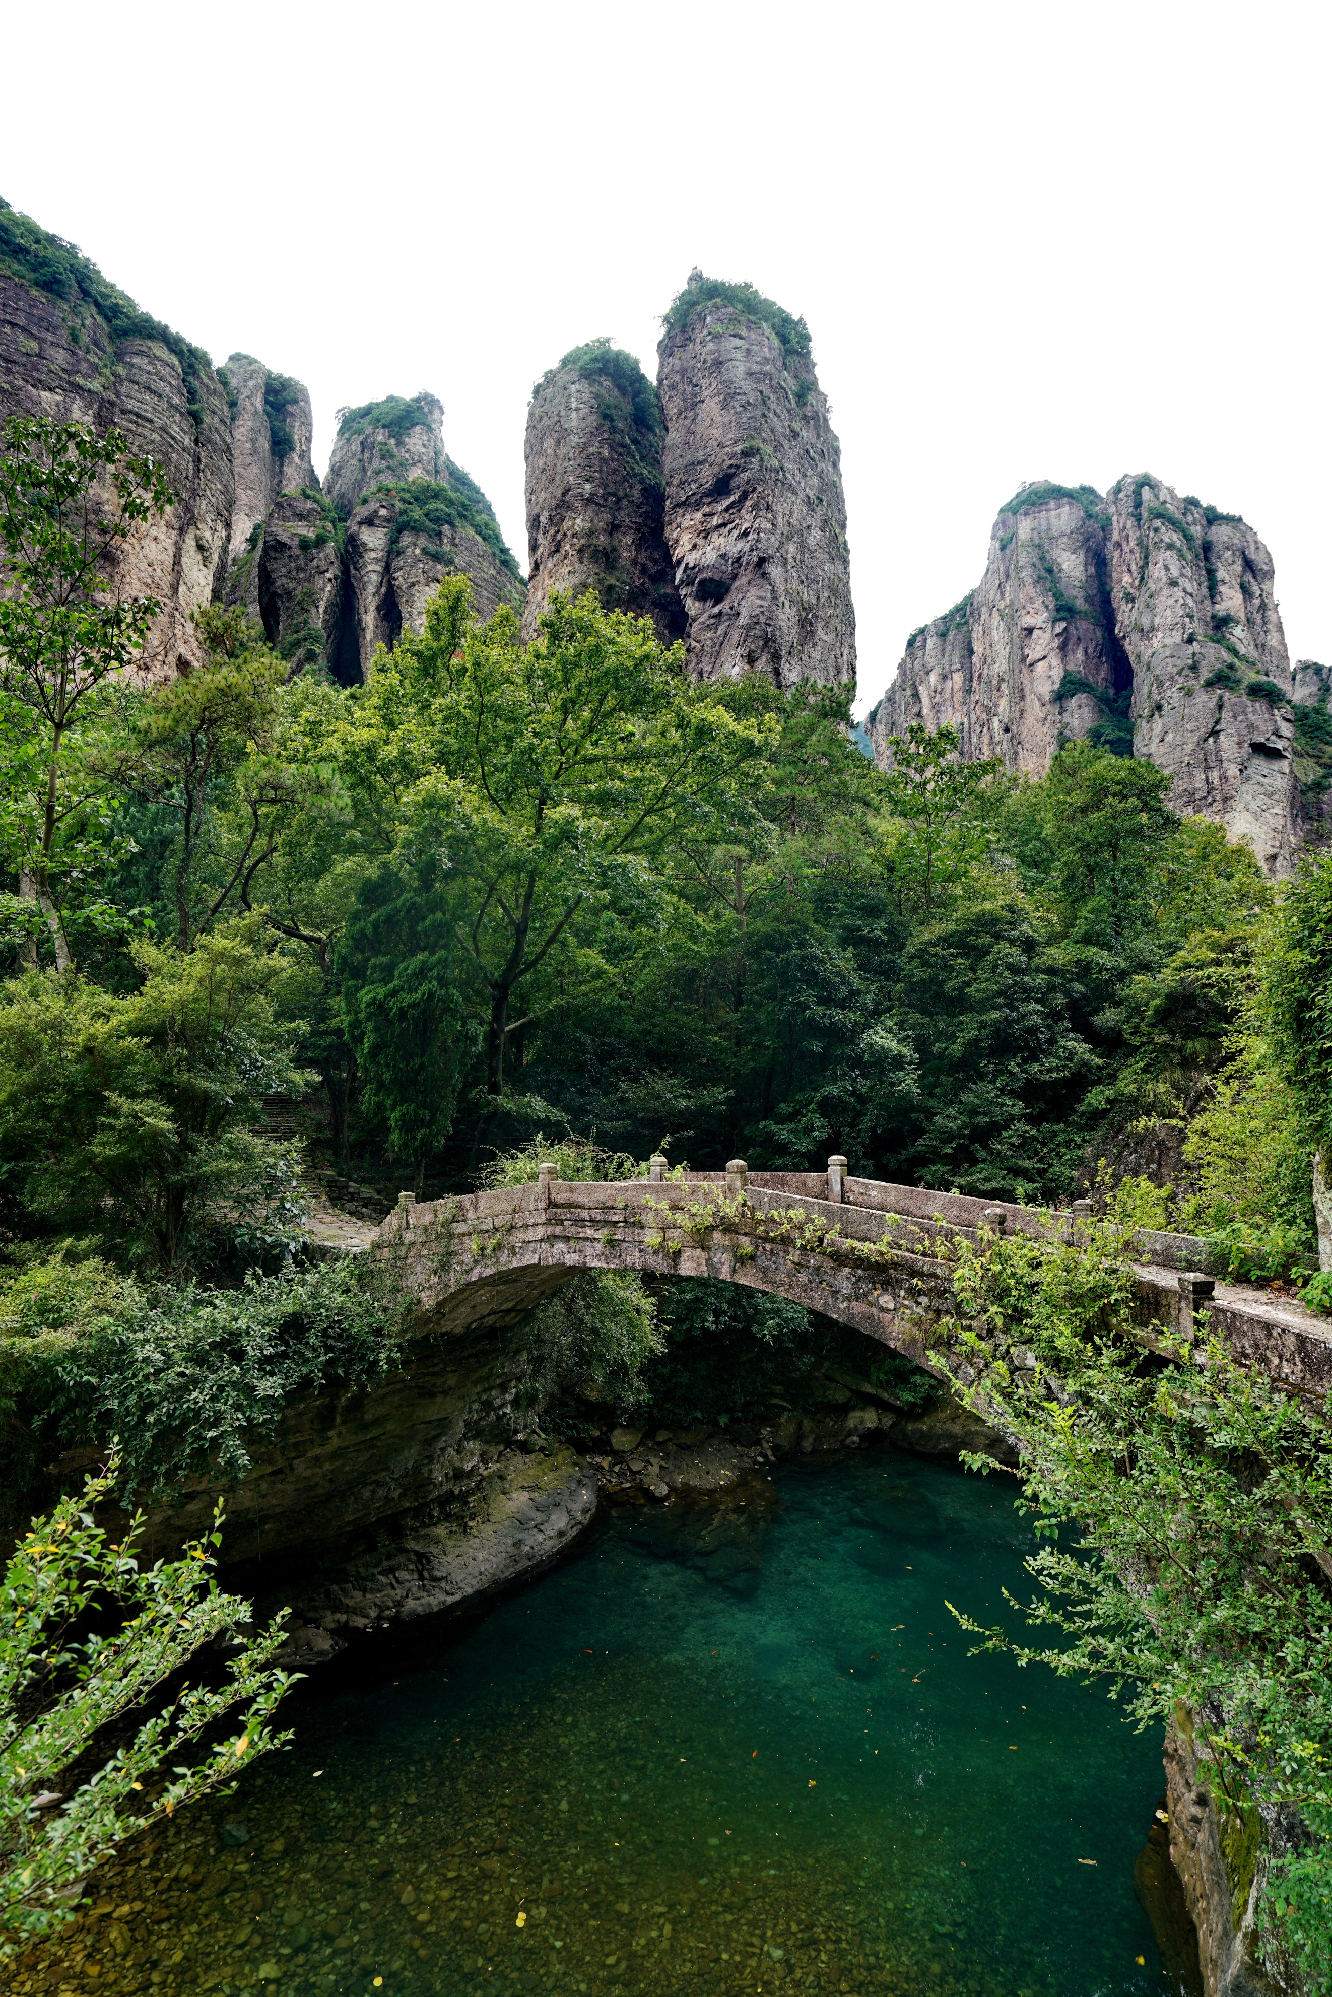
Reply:
M593 589L605 609L651 617L667 645L685 635L663 531L663 437L655 385L609 339L573 347L535 383L523 637L555 589Z

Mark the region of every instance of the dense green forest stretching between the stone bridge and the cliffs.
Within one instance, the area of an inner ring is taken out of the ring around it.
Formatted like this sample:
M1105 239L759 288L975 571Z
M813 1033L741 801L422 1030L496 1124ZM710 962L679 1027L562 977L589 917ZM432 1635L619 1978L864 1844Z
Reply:
M1150 763L1068 743L1032 783L913 729L883 775L843 691L693 685L591 599L523 647L463 577L363 687L210 607L208 667L144 691L152 609L96 607L74 515L98 465L120 527L156 473L10 429L14 1236L234 1266L296 1226L286 1094L375 1184L465 1188L537 1132L1034 1202L1150 1158L1162 1216L1312 1244L1278 899Z

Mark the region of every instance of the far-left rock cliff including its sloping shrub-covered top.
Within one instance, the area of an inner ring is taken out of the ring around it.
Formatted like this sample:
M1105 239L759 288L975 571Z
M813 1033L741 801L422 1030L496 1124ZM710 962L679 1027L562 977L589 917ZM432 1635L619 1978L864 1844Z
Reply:
M236 477L228 397L200 347L140 312L72 244L0 202L0 417L118 425L174 503L120 549L112 587L162 603L146 679L200 661L190 611L222 585Z

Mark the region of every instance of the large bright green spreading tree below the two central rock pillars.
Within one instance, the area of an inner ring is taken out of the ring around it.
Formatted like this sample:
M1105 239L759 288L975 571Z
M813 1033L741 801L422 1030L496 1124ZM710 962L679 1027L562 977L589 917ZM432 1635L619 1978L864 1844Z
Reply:
M341 763L385 845L447 857L499 1096L515 1032L659 947L663 859L745 817L741 779L771 731L733 721L651 623L591 595L555 595L531 645L507 609L471 631L467 613L467 581L447 579L425 635L375 661ZM551 997L515 1018L539 975Z

